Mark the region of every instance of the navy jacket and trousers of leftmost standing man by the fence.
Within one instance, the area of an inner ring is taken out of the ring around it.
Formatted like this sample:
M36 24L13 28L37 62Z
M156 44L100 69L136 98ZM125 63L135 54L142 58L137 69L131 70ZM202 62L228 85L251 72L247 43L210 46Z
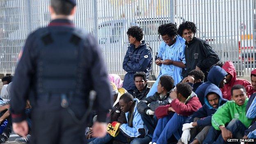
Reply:
M123 59L123 69L127 72L124 76L123 88L127 91L136 88L133 80L136 72L144 71L148 79L152 70L152 60L152 50L146 41L142 41L138 48L130 44Z

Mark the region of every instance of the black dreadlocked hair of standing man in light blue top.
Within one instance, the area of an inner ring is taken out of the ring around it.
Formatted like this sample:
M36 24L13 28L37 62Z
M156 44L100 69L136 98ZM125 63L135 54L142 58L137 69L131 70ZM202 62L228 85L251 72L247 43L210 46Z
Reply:
M174 23L165 23L158 27L158 38L160 39L160 35L168 35L169 37L174 37L177 35L177 26Z

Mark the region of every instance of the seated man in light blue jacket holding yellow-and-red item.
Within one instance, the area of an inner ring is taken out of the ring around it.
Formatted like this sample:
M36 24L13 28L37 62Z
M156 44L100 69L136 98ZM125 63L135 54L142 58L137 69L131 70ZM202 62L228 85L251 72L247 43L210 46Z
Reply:
M133 98L131 94L125 93L119 99L121 110L126 113L128 123L118 124L112 123L113 126L118 126L119 134L113 137L110 134L105 135L103 138L96 138L89 144L106 144L111 139L118 140L123 143L130 144L149 144L151 137L147 134L148 129L144 125L139 112L137 111L137 104L139 100Z

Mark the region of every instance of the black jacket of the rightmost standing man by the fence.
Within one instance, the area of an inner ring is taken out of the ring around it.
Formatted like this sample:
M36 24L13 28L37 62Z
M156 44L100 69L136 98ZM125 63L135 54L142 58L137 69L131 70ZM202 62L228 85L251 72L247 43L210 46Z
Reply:
M186 59L186 72L184 78L196 66L203 71L205 81L207 81L208 71L213 64L219 62L219 57L215 50L209 45L207 41L194 37L190 43L185 42L185 59Z

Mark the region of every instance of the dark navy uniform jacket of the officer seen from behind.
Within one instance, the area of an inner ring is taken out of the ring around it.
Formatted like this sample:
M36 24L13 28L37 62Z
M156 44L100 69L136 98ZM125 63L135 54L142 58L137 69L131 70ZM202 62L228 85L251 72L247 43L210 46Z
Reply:
M82 117L91 89L97 93L98 121L105 121L112 100L97 41L69 20L53 20L25 43L11 87L13 121L25 119L27 98L35 113L62 109L67 101L69 110Z

